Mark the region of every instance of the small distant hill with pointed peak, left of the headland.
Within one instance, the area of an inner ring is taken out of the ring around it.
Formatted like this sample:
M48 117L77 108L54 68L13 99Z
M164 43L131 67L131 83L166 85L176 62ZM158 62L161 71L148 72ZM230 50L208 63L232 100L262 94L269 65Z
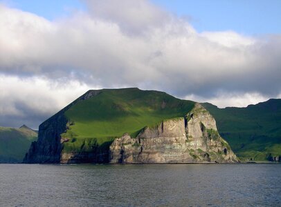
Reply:
M22 162L37 132L21 126L20 128L0 127L0 163Z

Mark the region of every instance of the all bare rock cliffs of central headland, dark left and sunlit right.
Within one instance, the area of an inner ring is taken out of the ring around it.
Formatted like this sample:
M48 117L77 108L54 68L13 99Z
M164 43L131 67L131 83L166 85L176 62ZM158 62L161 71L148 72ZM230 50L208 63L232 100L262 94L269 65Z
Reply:
M230 146L219 136L215 119L199 103L185 116L167 119L143 128L136 137L125 134L101 146L96 138L89 139L90 148L82 146L64 150L72 141L62 134L73 124L65 112L78 101L100 93L91 90L39 126L24 163L192 163L238 161ZM87 140L85 140L87 141Z

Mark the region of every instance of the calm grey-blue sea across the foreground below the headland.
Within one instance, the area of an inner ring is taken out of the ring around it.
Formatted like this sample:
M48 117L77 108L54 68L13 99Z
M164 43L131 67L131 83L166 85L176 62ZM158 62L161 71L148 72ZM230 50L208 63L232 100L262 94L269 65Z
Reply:
M281 206L281 164L0 164L0 206Z

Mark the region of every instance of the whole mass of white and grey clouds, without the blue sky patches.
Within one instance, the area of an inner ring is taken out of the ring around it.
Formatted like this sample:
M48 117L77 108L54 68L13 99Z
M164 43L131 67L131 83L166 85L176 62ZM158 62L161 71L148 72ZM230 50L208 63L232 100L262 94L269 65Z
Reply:
M24 101L51 113L63 107L64 97L78 97L90 86L193 94L219 106L245 106L280 95L280 34L198 33L149 1L84 2L89 12L55 21L0 5L0 95L4 89L10 95L0 103L1 111L24 116L24 109L14 107ZM61 92L47 87L62 80L82 85L77 93L71 84ZM17 88L32 91L33 82L47 92L17 97Z

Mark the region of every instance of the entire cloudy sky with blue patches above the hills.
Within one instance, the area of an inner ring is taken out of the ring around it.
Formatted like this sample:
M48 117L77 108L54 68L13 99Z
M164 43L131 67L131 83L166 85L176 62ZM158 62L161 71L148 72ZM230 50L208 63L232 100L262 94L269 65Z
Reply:
M281 1L0 0L0 126L90 89L244 107L281 98Z

